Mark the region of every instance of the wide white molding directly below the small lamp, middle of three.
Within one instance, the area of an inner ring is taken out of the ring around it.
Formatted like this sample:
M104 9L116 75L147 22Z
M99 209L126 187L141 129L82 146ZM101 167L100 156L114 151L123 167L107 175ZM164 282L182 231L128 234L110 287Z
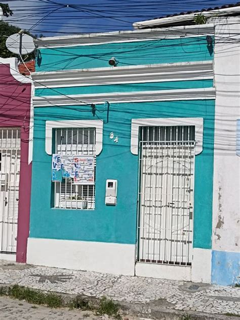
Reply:
M35 88L213 79L213 61L32 73Z

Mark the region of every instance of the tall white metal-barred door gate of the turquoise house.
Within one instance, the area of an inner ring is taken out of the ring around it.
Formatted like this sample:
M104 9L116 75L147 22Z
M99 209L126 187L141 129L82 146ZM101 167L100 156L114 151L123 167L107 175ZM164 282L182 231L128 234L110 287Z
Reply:
M138 262L190 266L194 126L141 127Z

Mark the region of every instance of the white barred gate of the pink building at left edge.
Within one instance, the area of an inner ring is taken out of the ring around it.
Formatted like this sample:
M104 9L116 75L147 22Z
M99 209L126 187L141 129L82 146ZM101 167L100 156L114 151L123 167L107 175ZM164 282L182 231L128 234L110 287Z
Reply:
M19 128L0 128L0 252L2 253L16 252L20 142Z

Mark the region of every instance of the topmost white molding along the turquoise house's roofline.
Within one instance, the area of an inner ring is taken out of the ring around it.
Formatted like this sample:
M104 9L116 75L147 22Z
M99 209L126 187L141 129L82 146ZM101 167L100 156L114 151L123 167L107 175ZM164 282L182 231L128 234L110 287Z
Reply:
M192 38L207 35L214 35L213 24L208 23L201 25L175 26L145 30L113 31L109 33L82 34L62 37L43 37L41 39L36 39L34 42L39 49L44 49L71 46L89 46L104 43L176 39L180 37Z

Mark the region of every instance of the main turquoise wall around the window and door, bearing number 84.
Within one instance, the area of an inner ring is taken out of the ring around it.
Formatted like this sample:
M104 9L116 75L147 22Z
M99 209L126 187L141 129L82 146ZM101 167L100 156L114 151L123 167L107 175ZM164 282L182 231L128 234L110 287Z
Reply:
M211 248L214 106L214 100L110 104L103 150L97 156L93 211L51 208L51 156L45 151L46 120L94 119L90 107L35 108L30 237L134 244L138 156L130 152L131 119L203 117L204 147L195 158L193 246ZM106 112L97 114L106 120ZM118 136L118 144L109 139L110 132ZM118 180L115 207L104 203L106 179Z

